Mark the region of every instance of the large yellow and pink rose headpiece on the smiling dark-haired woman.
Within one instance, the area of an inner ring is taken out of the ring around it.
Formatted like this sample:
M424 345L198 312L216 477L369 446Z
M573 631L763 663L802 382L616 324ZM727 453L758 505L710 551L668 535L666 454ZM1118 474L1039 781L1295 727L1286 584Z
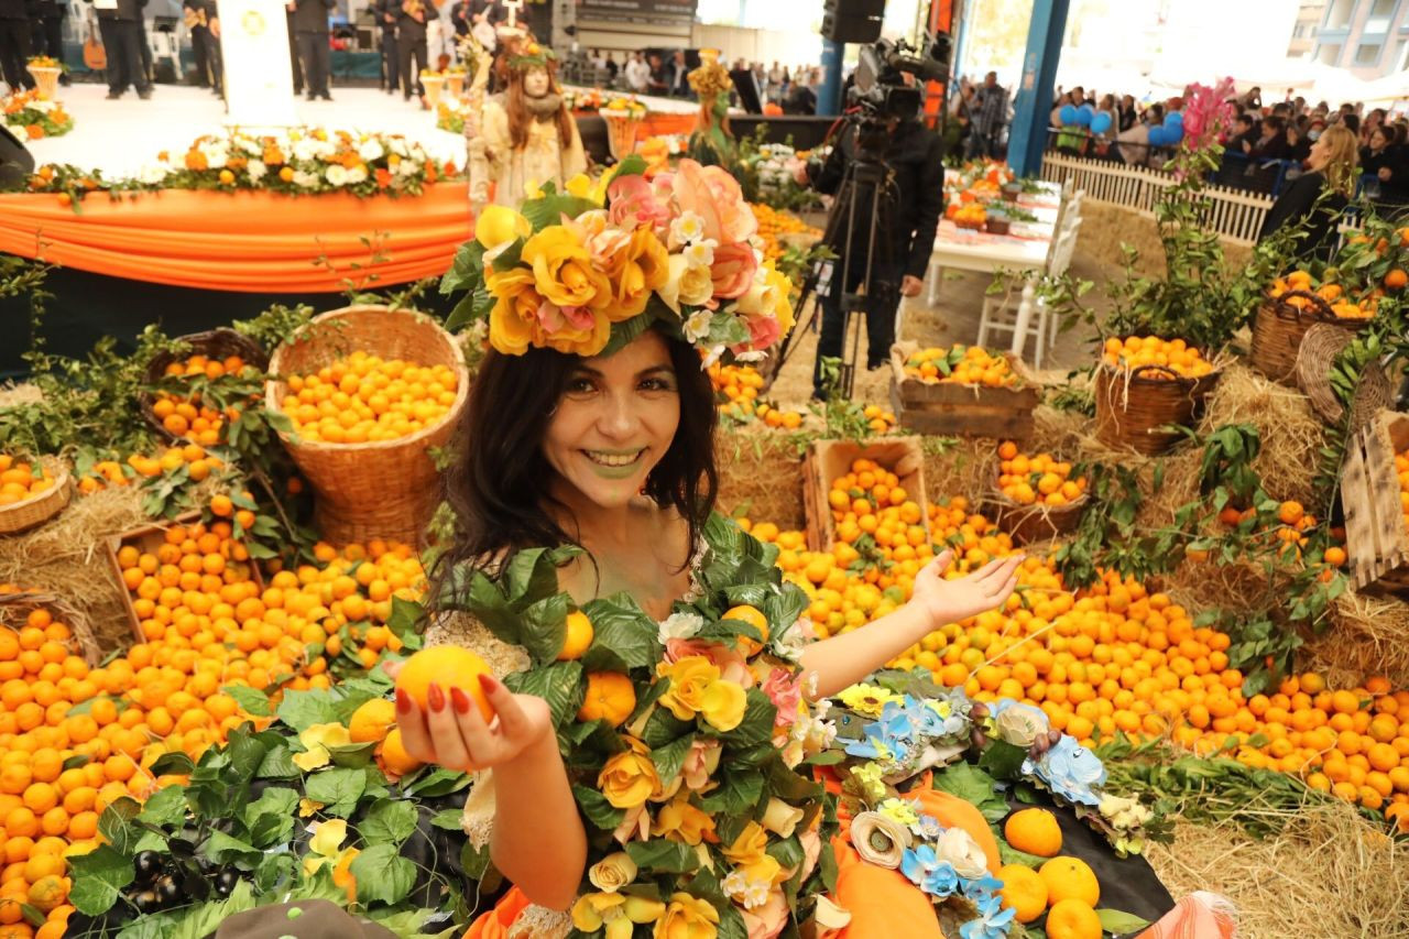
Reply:
M682 159L652 179L628 156L595 185L545 186L519 211L486 207L442 293L447 326L489 321L489 344L610 354L659 324L706 365L762 358L793 326L792 282L755 247L758 220L719 166Z

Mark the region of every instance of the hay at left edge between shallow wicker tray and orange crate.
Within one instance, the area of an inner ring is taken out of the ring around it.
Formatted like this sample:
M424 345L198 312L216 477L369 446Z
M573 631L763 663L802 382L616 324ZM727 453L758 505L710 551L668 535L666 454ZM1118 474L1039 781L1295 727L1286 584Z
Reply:
M131 626L103 541L147 522L137 486L76 498L52 522L0 539L0 581L65 598L76 633L89 632L103 654L123 649L132 640Z

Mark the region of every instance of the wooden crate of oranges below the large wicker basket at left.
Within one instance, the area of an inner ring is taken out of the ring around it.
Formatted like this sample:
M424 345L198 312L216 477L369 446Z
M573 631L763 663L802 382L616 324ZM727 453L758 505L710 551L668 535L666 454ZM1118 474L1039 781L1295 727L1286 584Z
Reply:
M259 567L231 537L231 524L217 520L206 526L200 512L130 529L110 537L106 547L138 643L158 642L169 629L185 634L189 627L224 642L218 629L223 618L210 598L218 596L234 612L245 599L263 594Z

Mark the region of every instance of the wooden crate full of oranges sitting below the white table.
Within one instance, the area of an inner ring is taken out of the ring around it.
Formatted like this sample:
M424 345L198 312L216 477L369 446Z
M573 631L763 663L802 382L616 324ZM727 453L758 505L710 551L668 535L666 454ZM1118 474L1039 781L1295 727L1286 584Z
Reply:
M890 347L890 405L906 430L1027 440L1040 395L1020 362L976 345Z

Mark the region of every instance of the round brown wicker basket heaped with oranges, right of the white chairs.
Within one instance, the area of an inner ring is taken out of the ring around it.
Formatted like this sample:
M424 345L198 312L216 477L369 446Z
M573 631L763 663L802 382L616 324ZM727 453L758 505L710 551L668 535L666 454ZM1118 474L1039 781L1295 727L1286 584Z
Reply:
M1181 338L1106 340L1096 367L1096 438L1109 447L1161 454L1184 438L1220 369Z

